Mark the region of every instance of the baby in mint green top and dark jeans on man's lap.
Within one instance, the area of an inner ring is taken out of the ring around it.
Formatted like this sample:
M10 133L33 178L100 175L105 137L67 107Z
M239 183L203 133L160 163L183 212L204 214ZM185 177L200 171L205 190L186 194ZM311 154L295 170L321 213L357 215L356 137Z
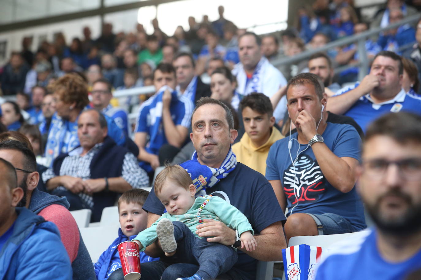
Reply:
M179 279L210 280L230 270L237 262L237 252L232 246L208 242L196 234L196 226L203 219L223 222L240 235L241 248L256 249L253 228L237 208L218 196L195 198L196 188L183 167L165 167L155 179L155 194L167 210L149 228L133 239L140 251L157 238L166 256L176 254L180 263L197 264L192 277ZM178 246L177 246L178 243Z

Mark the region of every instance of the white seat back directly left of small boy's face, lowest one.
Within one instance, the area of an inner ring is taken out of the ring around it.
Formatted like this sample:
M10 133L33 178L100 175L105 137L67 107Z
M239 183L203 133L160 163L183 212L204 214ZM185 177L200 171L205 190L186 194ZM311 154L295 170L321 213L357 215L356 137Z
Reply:
M102 252L118 236L115 226L81 228L80 234L82 235L86 249L88 249L89 256L91 256L92 262L96 262Z

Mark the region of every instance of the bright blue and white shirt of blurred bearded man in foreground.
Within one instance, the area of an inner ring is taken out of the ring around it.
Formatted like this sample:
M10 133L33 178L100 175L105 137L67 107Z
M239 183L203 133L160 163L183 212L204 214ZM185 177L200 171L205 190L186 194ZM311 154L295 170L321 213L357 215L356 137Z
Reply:
M328 252L317 268L316 280L407 279L411 272L421 269L421 250L403 262L389 262L379 254L377 231L362 233L366 234L347 238Z

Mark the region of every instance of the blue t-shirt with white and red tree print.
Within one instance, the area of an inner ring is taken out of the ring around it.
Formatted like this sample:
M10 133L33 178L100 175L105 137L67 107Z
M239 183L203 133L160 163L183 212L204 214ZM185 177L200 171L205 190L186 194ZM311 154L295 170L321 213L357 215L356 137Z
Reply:
M297 139L298 133L291 135ZM322 134L324 143L337 157L359 160L361 138L354 127L347 124L327 123ZM365 228L362 202L352 188L346 194L334 188L325 178L311 147L292 141L291 156L295 162L296 177L288 152L288 137L276 141L266 159L266 179L280 180L287 198L287 207L293 213L334 213L344 217L357 229ZM295 178L294 178L295 177ZM294 183L294 180L296 183ZM298 205L297 205L298 197Z

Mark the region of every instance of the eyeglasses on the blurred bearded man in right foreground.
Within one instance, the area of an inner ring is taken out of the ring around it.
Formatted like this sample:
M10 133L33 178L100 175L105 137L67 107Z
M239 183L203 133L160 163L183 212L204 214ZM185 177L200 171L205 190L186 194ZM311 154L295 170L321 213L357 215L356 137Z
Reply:
M384 159L364 160L362 165L366 175L373 179L381 179L386 175L390 165L397 165L401 175L408 181L421 180L421 158L413 157L395 161Z

